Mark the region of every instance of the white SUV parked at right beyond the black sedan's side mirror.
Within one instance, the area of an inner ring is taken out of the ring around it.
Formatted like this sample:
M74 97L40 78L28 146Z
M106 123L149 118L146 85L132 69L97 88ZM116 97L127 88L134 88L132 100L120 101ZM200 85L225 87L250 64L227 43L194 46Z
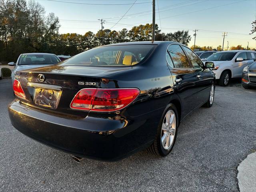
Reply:
M205 61L214 63L213 72L220 86L227 86L231 78L241 78L245 66L256 60L256 52L250 50L231 50L217 52Z

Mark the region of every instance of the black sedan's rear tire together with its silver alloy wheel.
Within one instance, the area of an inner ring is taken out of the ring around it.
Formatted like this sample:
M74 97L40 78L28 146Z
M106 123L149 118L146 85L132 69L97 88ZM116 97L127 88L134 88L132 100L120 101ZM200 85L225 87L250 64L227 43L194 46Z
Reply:
M156 137L153 144L148 147L148 152L158 156L168 155L177 137L178 122L177 109L174 104L170 104L162 115Z

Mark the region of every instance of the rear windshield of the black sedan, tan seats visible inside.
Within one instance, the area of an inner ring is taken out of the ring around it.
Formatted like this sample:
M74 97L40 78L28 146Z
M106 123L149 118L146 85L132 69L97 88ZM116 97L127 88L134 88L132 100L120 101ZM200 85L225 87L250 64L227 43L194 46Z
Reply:
M94 48L82 52L68 60L64 65L79 66L132 66L145 60L156 45L120 45Z

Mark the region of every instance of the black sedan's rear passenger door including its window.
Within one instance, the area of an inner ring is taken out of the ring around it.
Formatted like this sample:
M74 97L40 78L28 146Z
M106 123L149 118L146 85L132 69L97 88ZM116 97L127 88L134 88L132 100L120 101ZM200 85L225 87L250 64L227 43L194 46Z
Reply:
M188 114L198 106L196 100L196 70L194 70L186 54L178 44L170 44L166 58L174 81L174 88L182 101L183 114Z

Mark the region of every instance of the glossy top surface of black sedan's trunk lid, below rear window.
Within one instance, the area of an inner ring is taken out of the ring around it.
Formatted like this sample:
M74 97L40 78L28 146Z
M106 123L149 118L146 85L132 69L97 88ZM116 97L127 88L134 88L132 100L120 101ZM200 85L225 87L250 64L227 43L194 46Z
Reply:
M52 65L42 68L29 69L25 72L36 73L55 73L76 76L94 76L104 77L110 74L132 69L132 67L96 67L96 66L68 66L68 65Z

